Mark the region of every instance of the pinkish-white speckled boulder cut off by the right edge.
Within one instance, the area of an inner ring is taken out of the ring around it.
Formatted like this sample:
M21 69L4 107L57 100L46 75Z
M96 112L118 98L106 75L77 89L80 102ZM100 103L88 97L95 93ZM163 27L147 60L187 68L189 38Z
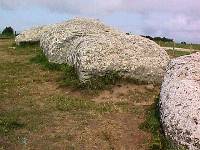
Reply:
M160 94L163 128L175 143L200 149L200 53L173 59Z

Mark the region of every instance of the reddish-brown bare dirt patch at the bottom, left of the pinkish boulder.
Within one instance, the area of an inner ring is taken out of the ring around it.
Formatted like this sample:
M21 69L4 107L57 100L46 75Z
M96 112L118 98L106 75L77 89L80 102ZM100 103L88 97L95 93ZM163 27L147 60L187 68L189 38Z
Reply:
M88 143L85 149L92 149L96 145L105 149L144 149L144 141L150 140L150 135L138 129L142 121L142 118L126 113L103 116L85 127L81 136L86 138L81 142L83 145Z

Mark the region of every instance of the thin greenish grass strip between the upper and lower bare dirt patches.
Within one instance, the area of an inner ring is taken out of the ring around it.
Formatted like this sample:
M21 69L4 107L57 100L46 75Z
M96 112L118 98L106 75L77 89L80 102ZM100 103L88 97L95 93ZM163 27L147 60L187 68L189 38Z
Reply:
M114 103L102 102L96 103L92 100L84 98L74 98L71 96L54 96L50 99L55 103L55 107L60 111L67 111L71 113L78 112L93 112L94 114L126 112L139 115L142 111L140 107L131 105L130 103Z

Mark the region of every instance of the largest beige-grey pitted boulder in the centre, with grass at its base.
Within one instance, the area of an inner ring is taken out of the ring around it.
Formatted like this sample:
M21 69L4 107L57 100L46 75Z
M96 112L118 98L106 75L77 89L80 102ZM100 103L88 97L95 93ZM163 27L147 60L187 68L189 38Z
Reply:
M124 77L159 83L169 61L155 42L93 19L58 24L42 35L40 44L50 62L75 66L81 81L118 71Z

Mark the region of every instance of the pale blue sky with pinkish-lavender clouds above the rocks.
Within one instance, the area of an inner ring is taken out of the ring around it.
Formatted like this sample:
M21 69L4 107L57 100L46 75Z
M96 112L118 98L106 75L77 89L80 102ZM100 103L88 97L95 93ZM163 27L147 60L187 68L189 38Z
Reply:
M82 16L133 34L200 43L199 6L198 0L0 0L0 30L23 31Z

